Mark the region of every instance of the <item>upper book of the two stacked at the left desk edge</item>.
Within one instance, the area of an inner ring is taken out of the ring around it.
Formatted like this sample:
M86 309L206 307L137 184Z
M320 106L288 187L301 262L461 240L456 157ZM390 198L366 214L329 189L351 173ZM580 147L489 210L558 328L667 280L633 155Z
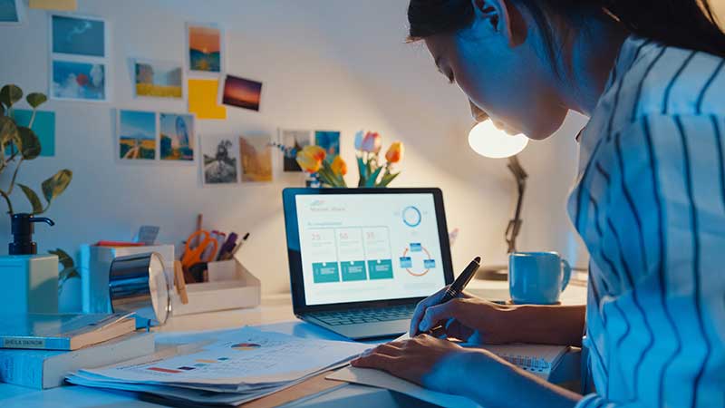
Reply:
M3 315L0 348L77 350L136 330L128 314L27 314Z

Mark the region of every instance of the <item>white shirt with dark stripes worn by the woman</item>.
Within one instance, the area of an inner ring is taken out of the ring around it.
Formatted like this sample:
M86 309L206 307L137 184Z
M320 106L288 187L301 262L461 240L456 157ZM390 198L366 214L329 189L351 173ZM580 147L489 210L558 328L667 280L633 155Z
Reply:
M725 407L725 60L631 37L581 133L578 408Z

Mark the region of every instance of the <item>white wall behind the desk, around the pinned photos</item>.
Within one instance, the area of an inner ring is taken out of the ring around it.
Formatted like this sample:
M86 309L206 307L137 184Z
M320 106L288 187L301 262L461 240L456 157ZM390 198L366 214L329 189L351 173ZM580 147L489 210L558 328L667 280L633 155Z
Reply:
M265 83L262 112L227 108L227 121L198 121L202 138L275 134L278 126L338 129L343 158L353 165L354 132L381 131L386 145L400 139L407 147L394 186L444 190L449 227L460 228L452 249L455 266L478 254L490 263L505 261L513 180L505 161L469 150L465 98L435 72L422 46L403 44L407 0L80 0L79 5L79 13L111 22L114 100L44 106L56 112L56 156L24 163L19 180L38 186L63 167L74 171L74 179L47 214L56 227L37 228L41 250L73 251L83 242L128 239L141 224L160 225L160 241L179 243L203 212L208 228L250 231L241 253L247 267L262 278L266 293L288 290L280 195L285 186L299 185L299 177L277 173L272 184L202 188L198 165L114 160L114 109L185 109L179 102L134 100L127 66L131 57L183 61L184 24L191 20L227 27L227 71ZM0 27L0 83L47 92L48 18L40 11L26 17L24 26ZM584 121L570 119L559 137L532 143L522 154L531 175L523 249L581 252L565 217L565 198L575 176L574 135ZM23 209L20 193L14 193L14 202ZM3 217L0 253L6 253L8 239Z

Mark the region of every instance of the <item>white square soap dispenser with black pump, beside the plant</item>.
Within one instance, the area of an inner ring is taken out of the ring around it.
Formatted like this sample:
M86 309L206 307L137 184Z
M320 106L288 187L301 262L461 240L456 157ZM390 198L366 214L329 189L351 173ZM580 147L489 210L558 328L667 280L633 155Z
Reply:
M9 313L58 313L58 257L37 255L34 224L53 226L52 219L32 214L11 218L13 242L8 256L0 257L0 299Z

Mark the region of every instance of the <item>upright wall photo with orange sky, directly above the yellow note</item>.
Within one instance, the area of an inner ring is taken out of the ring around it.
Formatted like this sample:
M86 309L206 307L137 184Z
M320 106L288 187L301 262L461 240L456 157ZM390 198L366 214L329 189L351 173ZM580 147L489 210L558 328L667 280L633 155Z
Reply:
M222 30L216 24L187 24L189 71L221 73Z

